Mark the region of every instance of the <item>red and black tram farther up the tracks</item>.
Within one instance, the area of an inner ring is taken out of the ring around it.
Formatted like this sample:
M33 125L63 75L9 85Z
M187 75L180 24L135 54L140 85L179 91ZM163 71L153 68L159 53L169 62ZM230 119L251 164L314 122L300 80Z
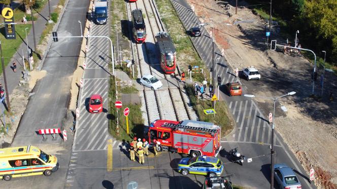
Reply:
M135 9L132 14L132 33L137 43L144 43L146 39L146 27L141 9Z

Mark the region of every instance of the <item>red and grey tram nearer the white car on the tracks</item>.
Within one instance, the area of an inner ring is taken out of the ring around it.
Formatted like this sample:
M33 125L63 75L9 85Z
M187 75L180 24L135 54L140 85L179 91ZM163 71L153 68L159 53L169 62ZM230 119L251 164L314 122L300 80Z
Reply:
M176 70L176 48L173 45L171 36L164 31L156 34L156 44L160 51L160 67L166 74L174 73Z

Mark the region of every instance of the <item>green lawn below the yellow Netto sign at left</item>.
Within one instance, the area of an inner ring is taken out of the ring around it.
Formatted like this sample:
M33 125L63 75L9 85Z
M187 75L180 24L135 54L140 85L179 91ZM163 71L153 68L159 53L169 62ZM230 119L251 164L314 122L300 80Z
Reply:
M12 63L10 62L11 58L13 57L14 53L16 53L16 49L18 49L23 42L22 39L26 39L25 28L28 27L30 29L31 24L16 24L15 25L15 32L16 32L16 39L15 40L6 40L5 37L5 28L0 28L0 41L3 50L3 56L5 61L5 67ZM29 29L27 29L29 31ZM26 53L26 52L25 52ZM26 56L26 54L25 54ZM3 72L2 66L0 66L0 72Z

